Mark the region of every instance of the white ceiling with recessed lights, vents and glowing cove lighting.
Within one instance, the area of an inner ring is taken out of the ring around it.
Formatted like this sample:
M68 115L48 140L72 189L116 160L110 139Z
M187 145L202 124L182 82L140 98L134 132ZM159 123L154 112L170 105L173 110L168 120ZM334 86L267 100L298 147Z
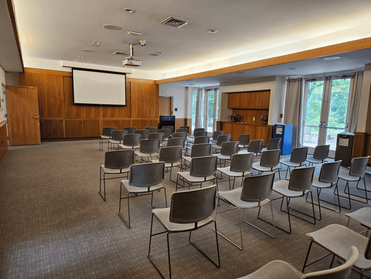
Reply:
M137 43L141 39L146 40L146 46L134 47L134 56L142 61L138 69L157 73L177 71L182 75L184 69L188 69L188 73L189 69L197 73L198 69L209 63L219 63L221 67L223 61L228 61L226 66L230 66L230 63L246 63L239 59L246 54L259 53L260 56L255 60L282 55L282 50L285 52L285 46L288 45L299 45L301 50L306 50L308 47L371 37L368 28L371 27L370 0L13 2L23 56L57 61L78 60L90 64L106 61L106 66L122 68L123 56L116 56L112 52L129 52L127 43ZM125 13L123 8L133 8L136 13ZM159 24L171 15L191 20L191 24L181 28ZM103 28L104 24L115 24L121 29L107 30ZM218 32L207 33L208 29ZM127 31L139 31L143 35L131 36ZM338 36L339 33L344 36ZM92 41L100 42L100 47L88 45ZM315 43L306 45L308 41ZM281 53L274 52L280 47ZM95 52L82 52L81 49ZM156 52L164 54L153 56ZM323 63L322 59L309 59L290 65L248 70L242 75L232 73L200 81L204 85L207 82L214 85L215 82L246 79L246 76L304 75L313 70L324 73L347 70L349 67L363 68L365 63L371 63L370 50L341 56L340 61L326 61L329 63ZM2 65L3 58L0 59Z

